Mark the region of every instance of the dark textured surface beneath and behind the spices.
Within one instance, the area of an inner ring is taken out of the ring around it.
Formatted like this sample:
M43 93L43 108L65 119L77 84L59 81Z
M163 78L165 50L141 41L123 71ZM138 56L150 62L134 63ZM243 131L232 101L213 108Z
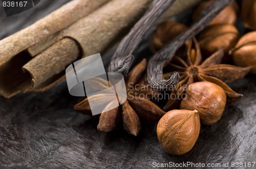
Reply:
M66 2L42 0L10 17L1 6L0 39ZM0 96L0 168L152 168L153 162L187 161L230 166L231 161L256 161L255 75L230 86L244 97L227 105L217 124L202 126L195 147L181 156L163 151L156 124L144 125L137 137L122 130L98 132L96 119L73 110L81 98L69 95L66 81L44 93Z

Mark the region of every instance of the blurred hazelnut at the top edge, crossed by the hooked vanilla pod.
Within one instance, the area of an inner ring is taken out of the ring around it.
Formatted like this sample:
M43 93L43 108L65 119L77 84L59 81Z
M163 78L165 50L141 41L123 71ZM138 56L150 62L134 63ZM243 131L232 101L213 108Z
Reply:
M208 0L200 3L193 13L193 20L196 21L203 10L205 10L214 1L215 0ZM238 4L236 2L231 3L226 8L224 8L214 19L212 19L209 25L217 23L235 24L238 17L238 10Z

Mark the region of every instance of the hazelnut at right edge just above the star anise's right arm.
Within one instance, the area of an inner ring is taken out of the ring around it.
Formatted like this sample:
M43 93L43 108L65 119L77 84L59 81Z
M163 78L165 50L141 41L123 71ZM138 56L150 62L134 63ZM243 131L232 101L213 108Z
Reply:
M242 36L237 45L230 50L235 65L252 66L251 73L256 74L256 31Z

